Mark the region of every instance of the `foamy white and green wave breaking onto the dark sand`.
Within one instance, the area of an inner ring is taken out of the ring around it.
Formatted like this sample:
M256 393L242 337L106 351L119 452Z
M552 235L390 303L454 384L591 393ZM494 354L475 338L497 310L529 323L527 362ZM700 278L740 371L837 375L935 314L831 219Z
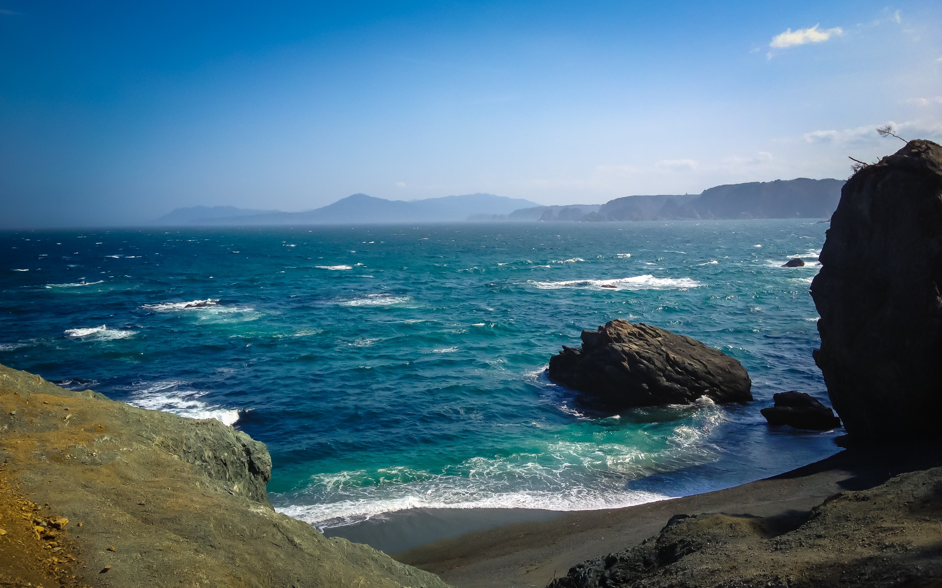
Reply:
M723 409L708 399L680 408L690 416L662 439L660 449L559 440L539 452L473 457L443 471L397 467L319 473L290 497L272 498L278 512L319 529L407 508L597 510L659 501L672 494L626 485L717 458L709 438L725 421ZM618 426L619 419L601 421Z

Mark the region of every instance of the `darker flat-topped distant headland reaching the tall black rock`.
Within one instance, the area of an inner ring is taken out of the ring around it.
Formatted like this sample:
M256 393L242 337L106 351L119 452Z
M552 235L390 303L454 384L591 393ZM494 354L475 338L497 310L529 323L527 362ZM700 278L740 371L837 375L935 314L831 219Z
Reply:
M837 208L841 180L731 183L699 195L625 196L601 206L540 206L509 220L674 220L683 218L828 218ZM595 207L595 210L590 210Z

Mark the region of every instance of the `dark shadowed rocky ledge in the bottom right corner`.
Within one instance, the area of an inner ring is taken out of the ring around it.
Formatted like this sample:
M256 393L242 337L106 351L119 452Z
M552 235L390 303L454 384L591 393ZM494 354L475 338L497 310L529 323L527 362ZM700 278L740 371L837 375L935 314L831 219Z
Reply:
M791 531L784 516L676 515L640 546L577 564L548 588L937 586L940 515L942 468L836 494Z

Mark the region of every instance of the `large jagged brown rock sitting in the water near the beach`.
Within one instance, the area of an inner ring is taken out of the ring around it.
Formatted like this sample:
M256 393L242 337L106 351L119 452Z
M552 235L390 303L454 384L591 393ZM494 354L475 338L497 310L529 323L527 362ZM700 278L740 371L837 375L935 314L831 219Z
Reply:
M582 331L582 348L563 345L549 360L549 377L589 397L599 408L718 403L753 399L749 374L734 358L657 326L609 321Z

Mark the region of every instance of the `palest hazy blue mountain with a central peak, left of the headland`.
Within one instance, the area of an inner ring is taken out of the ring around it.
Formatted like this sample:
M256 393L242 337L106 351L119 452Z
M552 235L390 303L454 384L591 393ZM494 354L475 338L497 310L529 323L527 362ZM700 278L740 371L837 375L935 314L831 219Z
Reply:
M506 215L518 208L532 206L539 206L539 204L525 199L510 199L493 194L467 194L409 201L378 199L365 194L354 194L345 199L339 199L333 204L302 213L259 211L258 214L252 215L203 216L180 224L233 226L453 222L506 218ZM184 210L189 209L177 209L163 218Z

